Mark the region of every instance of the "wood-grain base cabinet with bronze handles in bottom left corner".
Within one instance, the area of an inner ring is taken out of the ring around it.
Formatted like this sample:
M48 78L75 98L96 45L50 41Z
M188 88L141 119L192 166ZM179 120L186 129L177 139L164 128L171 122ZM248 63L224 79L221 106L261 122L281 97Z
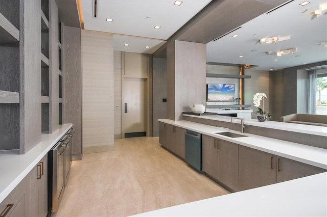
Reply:
M0 203L1 216L46 216L48 213L47 159L45 155Z

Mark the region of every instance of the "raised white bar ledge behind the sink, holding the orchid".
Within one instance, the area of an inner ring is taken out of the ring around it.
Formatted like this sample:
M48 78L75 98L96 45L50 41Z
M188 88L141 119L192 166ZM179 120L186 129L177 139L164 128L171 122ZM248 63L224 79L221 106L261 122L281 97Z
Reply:
M197 116L197 115L186 115L186 114L183 114L183 116L230 122L230 117L227 117L227 116L218 116L218 115ZM233 122L240 123L240 120L235 120ZM294 124L294 123L286 123L286 122L279 122L279 121L259 122L256 119L245 119L244 125L245 126L246 125L259 126L259 127L286 130L286 131L292 131L292 132L308 133L308 134L313 134L313 135L322 135L323 137L327 137L327 127L323 127L323 126L314 126L314 125L307 125L307 124Z

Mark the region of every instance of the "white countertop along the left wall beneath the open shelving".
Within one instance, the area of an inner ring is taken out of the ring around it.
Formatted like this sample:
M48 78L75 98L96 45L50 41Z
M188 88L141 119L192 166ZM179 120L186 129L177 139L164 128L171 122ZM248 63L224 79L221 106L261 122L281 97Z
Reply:
M19 150L0 151L0 203L72 126L63 124L51 134L42 134L41 142L26 154L19 154Z

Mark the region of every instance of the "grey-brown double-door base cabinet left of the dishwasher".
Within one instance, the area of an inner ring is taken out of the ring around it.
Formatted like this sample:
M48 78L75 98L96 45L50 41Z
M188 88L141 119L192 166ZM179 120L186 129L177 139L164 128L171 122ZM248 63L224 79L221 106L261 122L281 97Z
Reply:
M177 156L185 159L185 129L159 122L159 143Z

